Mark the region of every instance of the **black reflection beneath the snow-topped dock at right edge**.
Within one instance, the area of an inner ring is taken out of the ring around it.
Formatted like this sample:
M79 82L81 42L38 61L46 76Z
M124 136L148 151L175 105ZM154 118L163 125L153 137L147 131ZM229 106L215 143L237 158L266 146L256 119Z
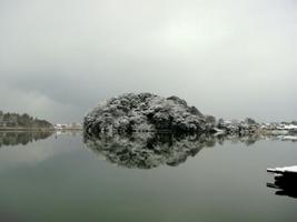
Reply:
M287 195L297 199L297 175L296 173L287 173L276 175L274 183L267 183L268 188L277 189L276 195Z

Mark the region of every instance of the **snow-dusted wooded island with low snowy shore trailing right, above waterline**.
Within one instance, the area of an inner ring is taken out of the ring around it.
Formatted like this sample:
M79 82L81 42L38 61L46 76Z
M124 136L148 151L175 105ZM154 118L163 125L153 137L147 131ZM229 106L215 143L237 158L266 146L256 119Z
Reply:
M89 135L168 132L207 134L268 134L297 140L297 122L257 123L216 120L178 98L162 98L152 93L127 93L111 98L91 110L83 119Z

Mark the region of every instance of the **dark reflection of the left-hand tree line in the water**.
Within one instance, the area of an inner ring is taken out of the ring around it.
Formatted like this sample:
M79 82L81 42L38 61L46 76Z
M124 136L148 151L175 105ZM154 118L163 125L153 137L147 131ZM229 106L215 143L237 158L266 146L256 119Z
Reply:
M52 131L0 131L0 148L4 145L26 145L50 137Z

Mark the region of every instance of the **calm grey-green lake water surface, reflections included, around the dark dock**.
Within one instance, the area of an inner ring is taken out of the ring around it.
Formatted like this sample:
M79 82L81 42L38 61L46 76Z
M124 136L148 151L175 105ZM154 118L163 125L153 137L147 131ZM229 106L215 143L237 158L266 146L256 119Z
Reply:
M1 132L0 221L297 221L297 199L266 172L296 165L296 142L158 140L139 159L127 154L138 139Z

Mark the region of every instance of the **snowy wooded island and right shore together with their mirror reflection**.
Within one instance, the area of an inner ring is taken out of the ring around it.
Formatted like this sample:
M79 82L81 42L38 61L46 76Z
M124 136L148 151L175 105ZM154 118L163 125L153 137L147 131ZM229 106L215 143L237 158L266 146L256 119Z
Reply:
M270 138L297 141L296 134L296 122L216 120L178 97L152 93L111 98L83 119L83 142L88 150L120 167L140 169L178 165L204 147L225 140L250 145Z

